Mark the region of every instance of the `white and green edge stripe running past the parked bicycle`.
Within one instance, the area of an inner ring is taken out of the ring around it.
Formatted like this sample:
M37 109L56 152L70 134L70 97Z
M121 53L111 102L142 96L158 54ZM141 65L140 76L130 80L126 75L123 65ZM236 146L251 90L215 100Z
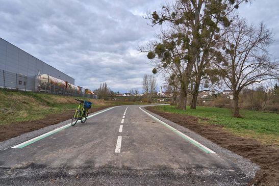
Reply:
M122 107L122 105L121 105L121 106L116 106L116 107ZM88 116L88 118L91 118L91 117L96 116L96 115L98 115L98 114L104 113L104 112L106 112L106 111L108 111L108 110L111 110L111 109L113 109L113 108L116 108L116 107L112 107L112 108L106 109L106 110L104 110L104 111L100 111L100 112L98 112L98 113L92 114L92 115ZM88 118L87 118L87 119L88 119ZM80 122L81 122L81 121L79 120L77 123L80 123ZM33 139L30 139L30 140L28 140L28 141L26 141L26 142L20 143L20 144L14 146L14 147L12 147L12 148L23 148L23 147L26 147L26 146L28 146L28 145L30 145L30 144L32 144L32 143L35 143L35 142L37 142L37 141L39 141L39 140L41 140L41 139L43 139L43 138L45 138L45 137L48 137L48 136L50 136L50 135L53 135L53 134L55 134L56 132L59 132L59 131L65 129L65 128L68 128L68 127L70 127L70 126L71 126L71 123L66 124L66 125L64 125L64 126L62 126L62 127L60 127L60 128L56 128L56 129L54 129L54 130L52 130L52 131L46 132L45 134L42 134L42 135L40 135L40 136L38 136L38 137L35 137L35 138L33 138Z

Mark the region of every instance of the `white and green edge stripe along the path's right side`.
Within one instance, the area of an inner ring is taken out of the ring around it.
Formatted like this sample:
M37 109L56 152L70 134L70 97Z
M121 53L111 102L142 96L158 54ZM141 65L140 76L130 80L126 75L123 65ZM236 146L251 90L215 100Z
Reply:
M143 106L142 106L143 107ZM150 116L151 118L155 119L156 121L160 122L161 124L165 125L166 127L168 127L169 129L171 129L172 131L174 131L176 134L182 136L183 138L187 139L189 142L191 142L192 144L194 144L195 146L199 147L200 149L206 151L207 153L213 153L216 154L216 152L214 152L213 150L207 148L204 145L201 145L200 143L198 143L197 141L195 141L194 139L190 138L189 136L185 135L184 133L182 133L181 131L173 128L172 126L166 124L165 122L161 121L160 119L156 118L155 116L149 114L148 112L144 111L142 109L142 107L140 107L140 110L142 110L145 114L147 114L148 116Z

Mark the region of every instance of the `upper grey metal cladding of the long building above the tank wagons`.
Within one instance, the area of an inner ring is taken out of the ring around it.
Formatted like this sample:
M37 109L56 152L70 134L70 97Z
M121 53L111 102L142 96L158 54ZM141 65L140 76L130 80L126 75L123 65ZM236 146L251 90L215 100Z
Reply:
M2 38L0 38L0 70L32 78L35 78L40 71L41 74L49 74L74 85L74 78L31 56Z

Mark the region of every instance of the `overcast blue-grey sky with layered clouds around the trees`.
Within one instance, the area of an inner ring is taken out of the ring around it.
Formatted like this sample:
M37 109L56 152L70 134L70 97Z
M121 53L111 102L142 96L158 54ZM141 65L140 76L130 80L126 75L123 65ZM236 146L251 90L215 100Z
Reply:
M95 89L106 82L114 91L141 90L143 74L152 67L137 48L159 29L142 15L160 10L162 2L0 0L0 37L70 75L75 85ZM255 0L239 12L272 29L270 52L279 59L279 1Z

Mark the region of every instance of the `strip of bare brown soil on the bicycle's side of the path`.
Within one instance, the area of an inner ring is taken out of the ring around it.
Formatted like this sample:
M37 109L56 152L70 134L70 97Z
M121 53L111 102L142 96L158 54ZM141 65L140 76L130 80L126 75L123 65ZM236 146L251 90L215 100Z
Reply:
M91 108L89 113L97 112L103 109L106 109L110 106L102 106L98 108ZM33 130L38 130L40 128L54 125L65 121L67 119L71 119L73 116L74 110L67 111L64 114L49 114L46 115L44 119L40 120L32 120L32 121L23 121L18 123L11 123L8 125L0 125L0 142L17 137L26 132L30 132Z

